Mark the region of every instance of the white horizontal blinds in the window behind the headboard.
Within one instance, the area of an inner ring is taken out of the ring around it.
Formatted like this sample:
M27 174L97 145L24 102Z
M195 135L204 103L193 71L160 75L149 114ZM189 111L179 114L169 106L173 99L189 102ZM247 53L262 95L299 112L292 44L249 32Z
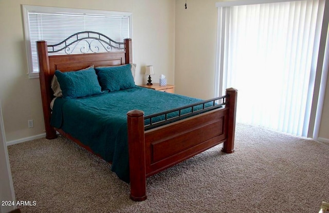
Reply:
M29 11L28 26L31 63L33 67L32 72L39 72L36 41L43 40L47 41L48 45L54 45L62 42L74 33L95 31L112 38L114 41L123 42L124 38L130 37L129 21L128 15L120 14L97 15L85 13L44 13ZM78 47L70 53L83 53L79 50L87 44L81 42L77 45ZM113 51L115 51L115 49L113 49ZM65 52L62 54L65 54ZM49 53L49 55L51 55L51 53Z

